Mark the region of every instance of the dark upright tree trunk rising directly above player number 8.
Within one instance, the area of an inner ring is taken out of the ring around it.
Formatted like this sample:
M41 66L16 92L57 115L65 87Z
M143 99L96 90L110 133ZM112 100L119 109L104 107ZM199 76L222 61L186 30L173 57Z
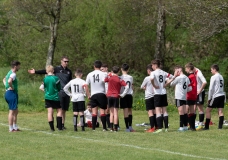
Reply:
M155 59L160 59L162 66L165 60L165 29L166 29L166 16L163 0L158 0L158 22L157 22L157 42L155 46Z

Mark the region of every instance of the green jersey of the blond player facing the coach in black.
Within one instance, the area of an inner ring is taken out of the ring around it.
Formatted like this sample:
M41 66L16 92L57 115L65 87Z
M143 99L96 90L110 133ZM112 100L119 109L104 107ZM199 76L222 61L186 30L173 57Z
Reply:
M59 78L54 75L47 75L44 80L44 98L52 101L59 101L59 91L61 89Z

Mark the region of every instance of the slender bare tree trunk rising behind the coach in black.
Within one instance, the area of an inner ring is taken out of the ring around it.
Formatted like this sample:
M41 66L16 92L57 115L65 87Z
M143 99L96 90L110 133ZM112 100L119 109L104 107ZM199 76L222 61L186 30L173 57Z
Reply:
M58 31L58 24L59 24L59 20L60 20L61 1L62 0L57 0L56 6L53 7L53 10L51 12L52 17L53 17L53 22L50 22L51 37L50 37L50 42L49 42L49 47L48 47L46 66L53 65L55 47L56 47L56 42L57 42L57 37L58 37L57 31Z

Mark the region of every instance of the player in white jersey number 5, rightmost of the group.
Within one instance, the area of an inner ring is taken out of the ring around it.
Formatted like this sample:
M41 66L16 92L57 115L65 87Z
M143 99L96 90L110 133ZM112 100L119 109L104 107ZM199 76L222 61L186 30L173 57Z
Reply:
M206 123L204 130L209 129L209 123L211 120L211 111L213 108L218 109L219 115L219 124L218 129L222 129L224 115L223 108L225 102L225 93L224 93L224 79L223 76L219 73L219 66L213 64L211 66L211 73L213 76L210 79L210 87L208 92L208 107L206 109Z

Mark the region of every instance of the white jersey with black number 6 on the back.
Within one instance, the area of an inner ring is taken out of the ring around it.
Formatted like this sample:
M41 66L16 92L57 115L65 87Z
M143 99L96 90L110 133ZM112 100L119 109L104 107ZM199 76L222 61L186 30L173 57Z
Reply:
M191 86L189 86L189 84L190 84L190 80L184 74L177 76L170 83L170 86L175 86L175 99L186 100L187 92L191 90Z

